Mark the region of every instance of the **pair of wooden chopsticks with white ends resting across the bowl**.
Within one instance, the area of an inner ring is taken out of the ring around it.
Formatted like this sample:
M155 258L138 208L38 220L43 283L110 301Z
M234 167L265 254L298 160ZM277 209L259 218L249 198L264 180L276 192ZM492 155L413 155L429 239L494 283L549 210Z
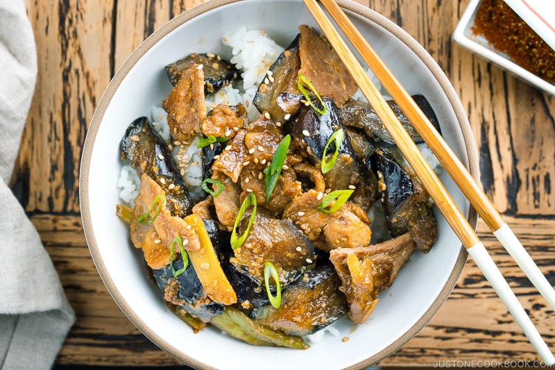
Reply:
M375 84L368 78L364 68L359 64L357 58L349 49L345 41L339 35L339 32L334 28L330 19L327 18L323 9L318 6L316 0L303 0L305 5L316 19L316 22L326 35L327 39L334 47L336 53L341 57L345 67L349 70L350 74L357 81L361 92L363 92L368 103L372 106L382 120L387 131L395 140L398 148L402 151L405 158L413 168L414 172L422 181L438 210L443 214L451 228L454 230L463 246L468 253L475 260L479 269L481 269L484 276L492 285L495 292L502 299L503 303L509 309L509 312L515 318L524 334L528 337L529 341L536 348L538 354L547 364L555 364L555 357L549 350L549 347L543 341L541 335L524 308L520 305L518 298L509 287L502 276L499 269L493 262L484 244L476 235L474 229L468 224L466 218L462 215L461 210L454 203L450 194L445 190L443 184L436 176L432 168L428 165L420 150L411 137L404 130L402 124L397 119L391 108L386 103L384 97L379 92ZM335 0L321 0L327 12L334 19L336 24L341 28L341 31L346 35L348 40L360 53L368 67L373 71L375 76L379 79L382 85L386 88L395 103L401 108L405 116L411 121L411 124L416 129L420 137L426 142L429 149L436 155L441 165L445 168L448 174L453 178L456 185L459 186L463 194L470 201L470 204L475 208L480 217L484 219L490 230L499 242L504 246L509 255L517 262L518 266L528 276L533 285L538 289L551 306L555 310L555 290L549 284L545 276L542 274L538 266L533 262L530 255L527 253L524 246L520 243L518 238L513 233L513 230L506 224L495 210L495 207L490 203L486 194L481 190L478 183L463 166L456 154L450 149L443 137L436 131L434 126L427 119L426 115L420 110L418 105L413 101L409 93L404 90L404 87L393 76L391 71L386 67L384 62L377 56L377 53L370 47L370 44L364 39L361 33L357 30L350 19L341 10Z

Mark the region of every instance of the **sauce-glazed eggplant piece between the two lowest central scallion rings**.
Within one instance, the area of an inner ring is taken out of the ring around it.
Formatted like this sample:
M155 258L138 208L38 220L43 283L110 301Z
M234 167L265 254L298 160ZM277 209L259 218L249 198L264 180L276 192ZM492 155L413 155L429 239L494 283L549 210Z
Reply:
M248 236L234 250L235 256L230 262L259 285L264 284L264 264L271 262L278 271L280 284L285 287L314 267L314 246L289 220L266 217L262 210L258 208ZM237 235L245 233L249 218L250 215L244 215Z

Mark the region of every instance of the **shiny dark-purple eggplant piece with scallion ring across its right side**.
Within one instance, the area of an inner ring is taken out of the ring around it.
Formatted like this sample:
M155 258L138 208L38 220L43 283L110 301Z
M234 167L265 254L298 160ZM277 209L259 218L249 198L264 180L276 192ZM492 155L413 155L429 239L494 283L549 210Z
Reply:
M323 96L322 101L326 110L323 115L316 112L311 106L304 106L300 110L298 117L293 121L293 134L307 143L309 159L316 167L318 167L318 162L321 163L324 151L327 160L334 151L337 151L335 164L330 171L324 174L327 188L345 190L349 187L356 187L361 180L361 163L352 149L334 101L327 96ZM339 148L336 148L335 143L331 142L325 149L327 143L332 139L332 135L339 129L342 129L344 133Z

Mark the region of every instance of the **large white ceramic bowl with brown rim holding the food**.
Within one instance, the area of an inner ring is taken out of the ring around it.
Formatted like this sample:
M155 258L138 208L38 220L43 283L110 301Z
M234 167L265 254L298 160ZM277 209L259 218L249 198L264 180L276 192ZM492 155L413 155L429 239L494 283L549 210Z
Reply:
M432 104L445 140L475 178L477 154L465 112L440 67L397 25L354 1L340 1L350 17L399 80ZM94 263L121 310L152 342L198 369L361 369L394 353L418 333L449 296L466 262L461 242L438 218L438 242L427 255L416 254L364 325L348 319L334 325L341 335L300 351L255 347L207 328L194 334L164 304L148 278L142 252L130 244L128 226L115 215L119 203L119 141L128 124L149 115L171 90L164 66L188 53L212 51L230 56L224 33L239 26L266 31L287 46L300 24L318 29L300 0L212 0L172 19L143 42L108 86L89 128L80 174L83 226ZM446 174L441 175L470 223L476 215ZM346 342L343 337L348 337Z

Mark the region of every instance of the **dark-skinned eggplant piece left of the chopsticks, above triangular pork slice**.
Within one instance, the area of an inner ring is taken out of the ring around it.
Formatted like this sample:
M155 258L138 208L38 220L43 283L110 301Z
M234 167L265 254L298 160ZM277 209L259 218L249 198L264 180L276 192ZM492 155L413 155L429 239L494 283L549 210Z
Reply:
M385 149L376 149L368 157L367 165L378 174L391 235L409 233L416 242L416 250L427 253L436 242L437 221L420 180L405 171Z

